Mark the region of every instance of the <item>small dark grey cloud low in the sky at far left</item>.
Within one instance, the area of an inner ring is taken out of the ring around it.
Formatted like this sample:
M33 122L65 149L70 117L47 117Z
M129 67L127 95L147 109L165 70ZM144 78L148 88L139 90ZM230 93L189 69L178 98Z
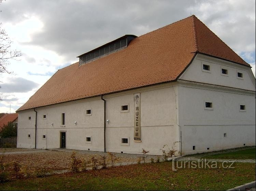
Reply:
M2 93L28 92L38 86L39 84L22 77L9 77L7 82L2 83L0 91Z

